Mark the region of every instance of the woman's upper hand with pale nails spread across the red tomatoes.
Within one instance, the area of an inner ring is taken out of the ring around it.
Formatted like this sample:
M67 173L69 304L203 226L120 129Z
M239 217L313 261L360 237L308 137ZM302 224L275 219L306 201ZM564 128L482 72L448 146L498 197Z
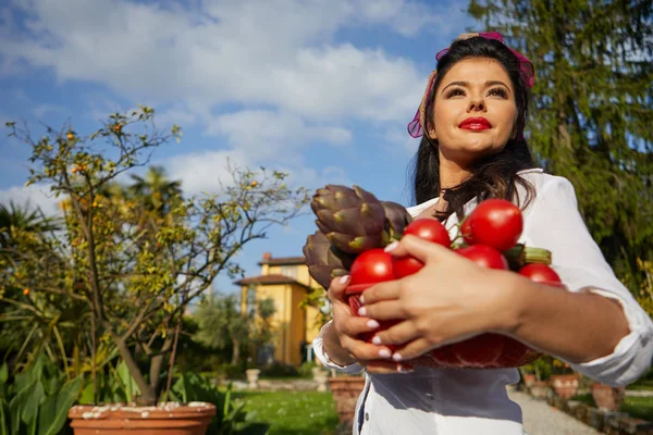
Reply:
M402 345L392 355L395 361L484 332L508 333L517 324L508 273L480 268L448 248L410 235L386 250L424 263L414 275L362 293L359 319L403 320L373 338L377 345Z

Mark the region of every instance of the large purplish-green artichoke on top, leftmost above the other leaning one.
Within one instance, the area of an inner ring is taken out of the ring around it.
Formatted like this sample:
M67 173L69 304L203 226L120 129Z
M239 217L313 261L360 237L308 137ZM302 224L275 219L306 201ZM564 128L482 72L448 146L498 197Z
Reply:
M328 185L318 189L310 207L318 228L342 251L360 253L390 241L383 204L358 186Z

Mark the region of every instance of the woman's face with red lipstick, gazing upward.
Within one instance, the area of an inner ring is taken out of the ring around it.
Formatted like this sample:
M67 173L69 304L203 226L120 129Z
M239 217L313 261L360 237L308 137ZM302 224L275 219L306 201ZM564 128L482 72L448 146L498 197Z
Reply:
M514 136L515 89L497 61L470 58L456 63L435 90L428 134L446 160L466 166L501 151Z

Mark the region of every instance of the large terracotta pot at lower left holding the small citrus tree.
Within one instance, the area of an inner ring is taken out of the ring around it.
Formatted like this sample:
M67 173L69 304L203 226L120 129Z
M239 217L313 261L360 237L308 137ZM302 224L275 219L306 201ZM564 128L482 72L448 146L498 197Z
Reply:
M215 407L211 403L74 406L69 411L75 435L205 435Z

